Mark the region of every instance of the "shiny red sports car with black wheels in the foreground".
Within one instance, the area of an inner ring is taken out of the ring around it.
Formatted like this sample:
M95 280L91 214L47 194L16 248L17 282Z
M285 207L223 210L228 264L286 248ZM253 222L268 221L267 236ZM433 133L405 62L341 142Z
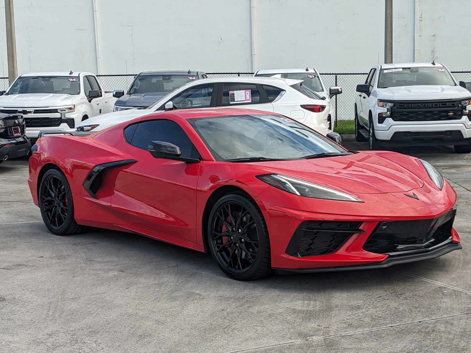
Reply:
M282 115L158 112L46 136L28 180L48 229L95 226L211 252L237 280L381 268L461 249L456 193L424 160L348 151Z

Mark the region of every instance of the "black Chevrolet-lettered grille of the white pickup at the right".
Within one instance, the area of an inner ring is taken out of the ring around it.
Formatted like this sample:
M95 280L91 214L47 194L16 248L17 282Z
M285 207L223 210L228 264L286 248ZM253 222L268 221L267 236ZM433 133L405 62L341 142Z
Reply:
M463 116L459 101L396 102L391 108L390 118L394 121L447 121L458 120Z

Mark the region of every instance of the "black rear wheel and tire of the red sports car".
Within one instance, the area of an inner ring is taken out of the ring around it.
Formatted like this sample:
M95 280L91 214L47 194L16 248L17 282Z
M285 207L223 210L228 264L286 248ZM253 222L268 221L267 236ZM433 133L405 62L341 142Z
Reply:
M72 190L60 170L49 169L44 174L38 196L42 220L49 232L71 235L85 230L85 226L75 221Z

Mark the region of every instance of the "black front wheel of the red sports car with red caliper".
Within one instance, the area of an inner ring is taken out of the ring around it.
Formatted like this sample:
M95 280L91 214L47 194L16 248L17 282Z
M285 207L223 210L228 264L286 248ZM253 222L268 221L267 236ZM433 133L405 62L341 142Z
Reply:
M216 202L207 236L211 255L227 276L252 281L272 272L267 225L246 193L231 193Z

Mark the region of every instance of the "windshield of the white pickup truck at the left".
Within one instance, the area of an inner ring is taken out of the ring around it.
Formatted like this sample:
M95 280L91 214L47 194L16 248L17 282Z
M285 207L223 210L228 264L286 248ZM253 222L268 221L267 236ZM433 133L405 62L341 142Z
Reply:
M77 76L21 76L8 90L8 95L25 93L78 95L80 81Z

